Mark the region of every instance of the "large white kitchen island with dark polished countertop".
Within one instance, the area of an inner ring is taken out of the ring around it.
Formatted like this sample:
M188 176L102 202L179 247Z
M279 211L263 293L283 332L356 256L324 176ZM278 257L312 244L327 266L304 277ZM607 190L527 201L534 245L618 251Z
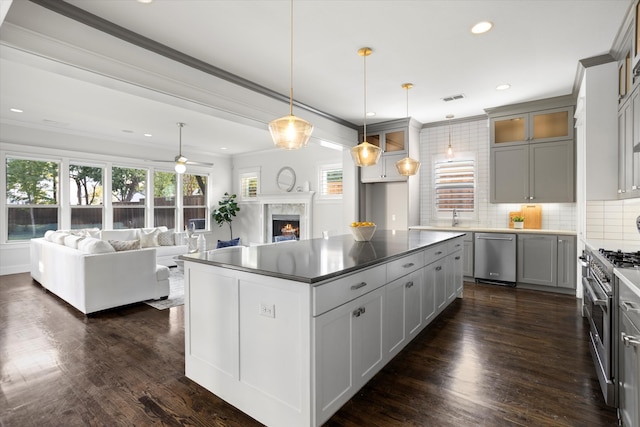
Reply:
M185 374L258 421L328 420L456 297L464 233L184 255Z

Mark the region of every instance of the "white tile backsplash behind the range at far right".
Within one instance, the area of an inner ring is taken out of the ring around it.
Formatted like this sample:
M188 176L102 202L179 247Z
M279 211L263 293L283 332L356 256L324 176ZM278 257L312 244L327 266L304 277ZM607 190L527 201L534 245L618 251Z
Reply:
M587 239L637 241L640 245L636 228L640 198L588 201L586 214Z

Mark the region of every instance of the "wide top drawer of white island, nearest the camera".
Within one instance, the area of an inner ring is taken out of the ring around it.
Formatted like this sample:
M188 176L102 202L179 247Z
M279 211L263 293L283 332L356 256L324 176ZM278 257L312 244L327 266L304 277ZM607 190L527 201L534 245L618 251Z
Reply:
M313 315L319 316L386 283L387 265L378 265L313 288Z

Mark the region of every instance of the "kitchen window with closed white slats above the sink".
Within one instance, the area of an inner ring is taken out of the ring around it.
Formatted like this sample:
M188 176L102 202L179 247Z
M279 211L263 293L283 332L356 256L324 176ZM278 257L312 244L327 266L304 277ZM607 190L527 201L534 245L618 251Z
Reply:
M456 209L475 212L475 161L473 159L438 160L434 164L436 216Z

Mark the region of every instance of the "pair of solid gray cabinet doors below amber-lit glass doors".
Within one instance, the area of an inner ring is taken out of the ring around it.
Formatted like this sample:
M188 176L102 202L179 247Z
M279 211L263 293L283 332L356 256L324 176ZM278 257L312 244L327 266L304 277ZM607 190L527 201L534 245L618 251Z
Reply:
M573 140L491 149L491 203L575 201Z

